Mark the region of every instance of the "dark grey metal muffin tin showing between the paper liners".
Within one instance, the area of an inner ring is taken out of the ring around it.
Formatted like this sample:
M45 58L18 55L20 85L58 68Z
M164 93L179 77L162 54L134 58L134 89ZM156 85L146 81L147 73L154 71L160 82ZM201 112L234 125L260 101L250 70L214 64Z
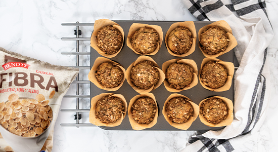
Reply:
M193 59L197 63L198 74L199 74L201 63L202 63L203 59L205 58L205 56L203 55L203 53L201 52L201 50L198 46L198 44L199 44L198 35L197 35L197 41L196 41L196 49L189 56L186 56L186 57L172 56L168 53L167 48L165 46L165 41L164 41L165 35L166 35L167 30L171 26L171 24L173 24L175 22L182 22L182 21L115 21L115 22L117 24L119 24L124 30L124 34L125 34L124 46L123 46L121 52L116 57L113 57L110 59L120 63L125 69L127 69L128 66L140 56L138 54L135 54L130 48L128 48L126 46L126 37L127 37L128 31L129 31L129 27L131 26L132 23L143 23L143 24L150 24L150 25L159 25L159 26L161 26L161 28L163 30L164 37L163 37L163 43L162 43L161 48L159 49L159 51L156 55L150 55L150 57L153 58L157 62L157 64L159 65L160 68L162 68L162 64L165 61L168 61L171 59L176 59L176 58ZM194 23L195 23L195 27L196 27L196 32L198 33L200 28L202 28L203 26L208 25L212 22L194 21ZM92 67L96 58L101 57L101 55L93 48L90 48L90 51L91 51L90 67ZM220 59L222 61L235 63L236 61L234 61L234 50L231 50L231 51L221 55L220 57L218 57L218 59ZM234 78L233 78L233 80L234 80ZM132 97L138 95L138 93L134 89L131 88L131 86L126 82L126 80L124 81L123 86L119 90L114 91L114 92L112 92L112 91L109 92L109 91L99 89L93 83L90 83L90 99L101 93L122 94L125 97L128 104L129 104L129 100ZM173 94L173 92L168 92L166 90L165 86L162 84L157 89L151 91L151 93L153 93L155 95L155 98L156 98L156 101L158 104L158 120L157 120L157 124L155 126L153 126L152 128L145 129L145 130L179 130L177 128L170 126L169 123L165 120L165 118L162 115L162 108L163 108L164 102L169 97L169 95ZM213 91L209 91L209 90L203 88L202 85L200 84L200 80L198 79L198 84L195 87L193 87L189 90L181 91L181 92L179 92L179 94L187 96L197 105L199 105L199 103L203 99L211 97L211 96L226 97L234 102L234 83L231 84L230 89L227 91L213 92ZM101 126L100 128L106 129L106 130L132 130L127 117L125 117L123 119L121 125L119 125L119 126L116 126L116 127ZM200 121L200 118L198 117L192 123L192 125L190 126L190 128L188 130L204 131L204 130L220 130L222 128L224 128L224 127L208 127L208 126L204 125Z

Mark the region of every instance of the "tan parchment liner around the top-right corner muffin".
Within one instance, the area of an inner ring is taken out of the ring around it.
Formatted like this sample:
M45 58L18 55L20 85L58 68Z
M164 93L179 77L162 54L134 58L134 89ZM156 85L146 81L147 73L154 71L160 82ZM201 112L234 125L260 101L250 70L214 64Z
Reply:
M201 40L200 40L201 39L201 34L203 33L203 31L205 29L207 29L208 27L211 27L211 26L219 26L219 27L223 28L227 32L226 35L227 35L228 39L230 40L227 49L224 52L220 52L220 53L215 54L215 55L206 54L204 52L203 48L202 48L201 43L200 43L201 42ZM217 58L218 56L229 52L231 49L234 49L238 45L238 42L237 42L235 36L233 35L233 32L231 31L231 28L230 28L229 24L224 20L213 22L209 25L206 25L206 26L202 27L198 32L198 36L199 36L199 48L202 51L202 53L204 54L204 56L209 57L209 58Z

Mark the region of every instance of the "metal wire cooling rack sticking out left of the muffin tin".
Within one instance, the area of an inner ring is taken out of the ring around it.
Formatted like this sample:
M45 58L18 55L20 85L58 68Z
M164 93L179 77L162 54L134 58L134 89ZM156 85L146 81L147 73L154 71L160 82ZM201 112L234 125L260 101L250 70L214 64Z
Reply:
M79 66L79 56L80 55L90 55L90 52L79 52L79 41L90 41L90 37L79 37L82 34L82 31L79 29L80 26L94 26L94 23L62 23L62 26L76 26L74 30L74 34L76 37L62 37L62 41L76 41L76 52L62 52L64 55L76 55L76 67L79 69L90 69L90 66ZM76 98L76 109L61 109L62 112L75 112L74 120L76 120L75 124L61 124L62 127L92 127L95 125L79 123L82 118L82 112L89 112L90 109L79 109L79 99L80 98L90 98L90 95L80 95L79 94L79 84L90 84L90 81L82 81L79 80L79 74L76 77L76 80L72 82L72 84L76 84L76 94L75 95L65 95L65 98Z

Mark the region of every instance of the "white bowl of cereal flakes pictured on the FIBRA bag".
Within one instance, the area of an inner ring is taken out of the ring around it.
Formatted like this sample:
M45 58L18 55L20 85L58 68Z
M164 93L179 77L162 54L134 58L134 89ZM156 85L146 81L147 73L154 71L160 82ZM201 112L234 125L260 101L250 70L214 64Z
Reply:
M53 111L42 94L35 99L11 94L0 102L0 132L14 151L40 151L51 131Z

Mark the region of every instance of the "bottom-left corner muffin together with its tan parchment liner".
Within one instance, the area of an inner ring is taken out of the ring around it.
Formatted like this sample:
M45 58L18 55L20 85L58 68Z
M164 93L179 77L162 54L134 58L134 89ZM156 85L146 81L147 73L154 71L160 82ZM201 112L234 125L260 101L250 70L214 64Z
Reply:
M127 102L120 94L102 93L91 98L89 122L96 126L119 126L127 110Z

